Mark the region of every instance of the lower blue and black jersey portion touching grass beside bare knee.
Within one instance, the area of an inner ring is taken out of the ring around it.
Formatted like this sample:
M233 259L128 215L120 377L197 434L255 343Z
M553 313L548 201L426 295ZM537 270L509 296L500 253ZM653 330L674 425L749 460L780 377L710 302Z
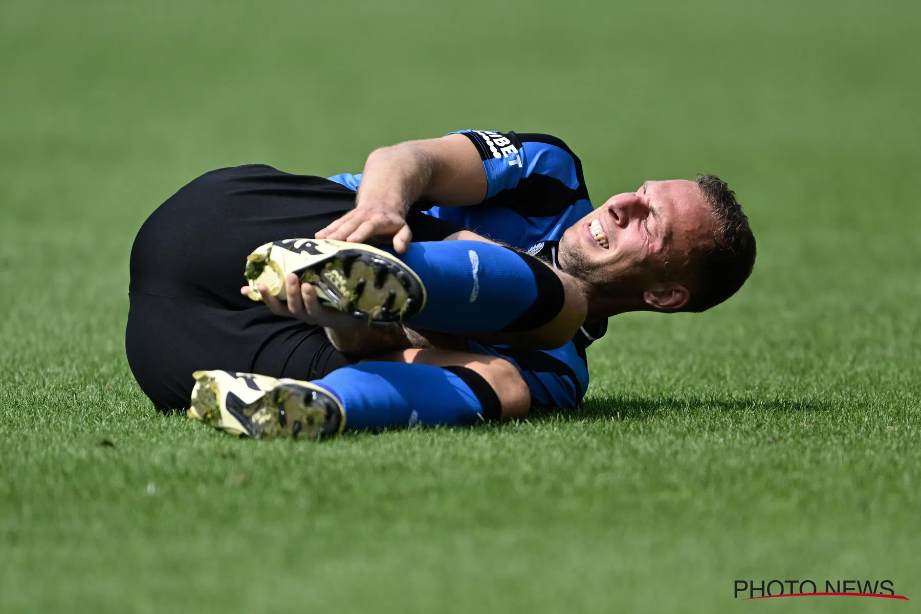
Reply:
M589 387L589 366L574 342L555 350L522 350L507 345L467 342L473 353L505 358L528 385L532 405L572 408Z

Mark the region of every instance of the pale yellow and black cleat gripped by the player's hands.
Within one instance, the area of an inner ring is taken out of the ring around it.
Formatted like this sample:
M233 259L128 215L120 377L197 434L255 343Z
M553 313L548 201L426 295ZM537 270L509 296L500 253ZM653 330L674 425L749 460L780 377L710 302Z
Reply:
M286 238L266 243L246 259L244 275L250 298L256 290L286 300L285 276L297 273L301 283L317 289L322 305L375 322L412 318L426 304L426 288L419 276L399 258L363 243L321 238Z

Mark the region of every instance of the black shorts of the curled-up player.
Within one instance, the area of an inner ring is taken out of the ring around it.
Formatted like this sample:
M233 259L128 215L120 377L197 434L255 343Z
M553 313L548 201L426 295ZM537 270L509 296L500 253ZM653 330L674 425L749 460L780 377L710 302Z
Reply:
M199 369L316 379L349 364L321 327L275 316L239 288L253 249L313 237L355 208L355 196L321 177L249 165L206 173L150 214L131 250L125 351L157 408L188 407ZM461 229L417 210L407 220L419 241Z

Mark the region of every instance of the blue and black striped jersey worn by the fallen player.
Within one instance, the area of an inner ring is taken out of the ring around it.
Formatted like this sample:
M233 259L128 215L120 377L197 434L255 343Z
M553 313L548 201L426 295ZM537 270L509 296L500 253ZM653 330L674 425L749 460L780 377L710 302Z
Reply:
M424 213L473 232L527 250L558 268L556 245L566 228L592 210L582 163L555 136L462 130L476 145L488 189L482 203L442 207L418 203ZM361 175L344 173L330 180L357 190ZM586 348L607 330L602 320L582 327L571 342L555 350L519 350L469 342L470 350L502 356L516 365L535 405L574 407L589 386Z

